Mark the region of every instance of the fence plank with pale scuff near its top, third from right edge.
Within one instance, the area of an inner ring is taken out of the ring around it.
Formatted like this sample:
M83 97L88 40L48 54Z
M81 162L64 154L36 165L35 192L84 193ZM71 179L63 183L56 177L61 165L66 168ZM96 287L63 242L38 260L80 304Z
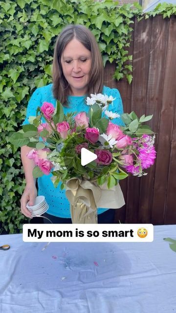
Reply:
M138 116L141 116L145 112L151 28L151 19L148 21L141 20L140 22L135 20L131 110L136 112ZM140 180L132 176L128 178L127 223L138 222Z

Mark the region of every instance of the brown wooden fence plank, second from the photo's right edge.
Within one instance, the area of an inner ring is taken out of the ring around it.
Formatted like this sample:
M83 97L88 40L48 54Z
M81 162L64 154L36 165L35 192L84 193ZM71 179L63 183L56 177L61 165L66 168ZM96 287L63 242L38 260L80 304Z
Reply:
M158 132L159 115L162 107L162 83L164 79L164 64L166 54L166 43L168 33L168 22L163 23L162 16L152 20L152 36L149 59L149 77L146 90L146 115L152 115L153 119L148 122L155 133ZM155 146L157 142L157 134ZM157 150L157 146L156 146ZM156 164L156 163L155 163ZM148 175L141 178L139 221L142 223L151 222L155 164L147 172ZM161 208L164 212L164 203ZM160 212L158 212L160 214ZM159 217L159 216L158 216Z

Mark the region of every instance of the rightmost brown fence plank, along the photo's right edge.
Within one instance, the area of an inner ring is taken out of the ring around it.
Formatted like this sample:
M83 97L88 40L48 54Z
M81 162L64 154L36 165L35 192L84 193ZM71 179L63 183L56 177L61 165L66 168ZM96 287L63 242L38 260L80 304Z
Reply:
M175 18L170 20L168 31L168 44L162 92L162 108L160 112L160 123L158 132L157 162L154 181L154 201L152 212L152 221L154 224L164 223L164 214L166 209L165 202L167 194L171 137L174 122L173 117L175 112L176 94L176 52L174 51L173 45L173 42L175 41L175 22Z

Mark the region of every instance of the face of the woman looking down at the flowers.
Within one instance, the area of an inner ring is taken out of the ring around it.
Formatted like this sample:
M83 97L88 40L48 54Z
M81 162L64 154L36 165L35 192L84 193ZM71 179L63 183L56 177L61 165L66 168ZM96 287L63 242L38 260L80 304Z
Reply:
M77 39L72 39L62 53L61 64L72 94L85 95L90 76L91 52Z

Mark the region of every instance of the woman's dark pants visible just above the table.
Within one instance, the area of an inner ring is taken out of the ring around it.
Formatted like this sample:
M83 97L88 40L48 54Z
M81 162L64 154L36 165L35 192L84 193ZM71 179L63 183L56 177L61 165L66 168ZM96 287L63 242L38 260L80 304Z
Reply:
M44 213L43 216L47 217L53 224L72 224L71 219L57 217L47 213ZM104 213L98 214L98 224L114 224L114 216L114 209L109 209ZM44 219L44 224L50 224L50 222Z

